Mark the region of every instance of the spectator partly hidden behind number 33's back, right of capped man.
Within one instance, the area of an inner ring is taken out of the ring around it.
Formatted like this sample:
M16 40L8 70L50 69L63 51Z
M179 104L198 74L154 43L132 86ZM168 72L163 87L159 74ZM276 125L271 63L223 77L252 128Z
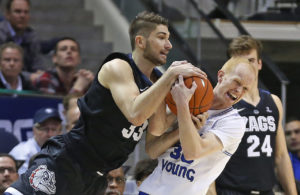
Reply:
M80 110L77 106L77 100L79 97L81 97L81 94L73 93L65 96L63 100L64 116L66 120L65 129L67 132L69 132L74 127L77 120L79 119Z

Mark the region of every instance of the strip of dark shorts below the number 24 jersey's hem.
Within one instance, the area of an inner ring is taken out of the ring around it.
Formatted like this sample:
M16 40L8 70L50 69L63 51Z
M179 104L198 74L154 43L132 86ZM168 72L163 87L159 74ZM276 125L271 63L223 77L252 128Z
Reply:
M274 195L272 190L238 190L216 186L217 195Z

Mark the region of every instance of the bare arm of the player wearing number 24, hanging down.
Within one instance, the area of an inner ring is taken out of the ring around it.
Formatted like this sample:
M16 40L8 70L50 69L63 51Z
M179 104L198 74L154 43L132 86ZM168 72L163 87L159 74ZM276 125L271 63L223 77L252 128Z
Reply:
M279 111L279 123L276 135L275 146L275 165L277 167L277 175L280 184L286 194L297 194L293 167L286 147L284 131L282 127L282 104L280 99L272 94L272 98L276 103Z

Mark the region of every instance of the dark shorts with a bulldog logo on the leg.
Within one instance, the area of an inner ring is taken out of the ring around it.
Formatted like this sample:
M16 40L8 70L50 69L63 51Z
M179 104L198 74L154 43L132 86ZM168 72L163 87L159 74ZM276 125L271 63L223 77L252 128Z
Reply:
M94 195L106 188L104 176L91 172L67 153L65 144L50 141L30 168L12 184L24 195Z

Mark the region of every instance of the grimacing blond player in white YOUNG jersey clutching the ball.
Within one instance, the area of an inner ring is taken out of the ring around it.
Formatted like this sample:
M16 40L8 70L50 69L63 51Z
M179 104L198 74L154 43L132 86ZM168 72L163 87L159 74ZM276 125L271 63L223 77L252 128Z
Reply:
M231 58L218 72L208 114L194 117L188 105L197 85L193 83L188 89L179 76L171 90L179 128L160 137L147 134L146 151L151 158L158 157L159 163L142 183L140 195L206 194L244 134L245 121L232 105L242 98L254 78L254 68L247 60Z

